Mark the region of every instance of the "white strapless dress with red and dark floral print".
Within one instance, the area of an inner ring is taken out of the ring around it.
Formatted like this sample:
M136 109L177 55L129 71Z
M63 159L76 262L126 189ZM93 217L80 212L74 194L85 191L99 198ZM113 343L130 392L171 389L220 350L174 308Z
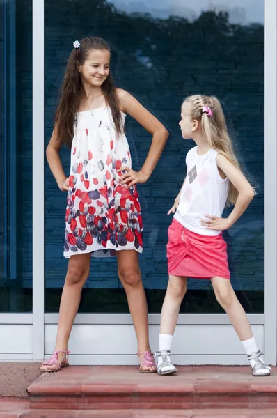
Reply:
M125 122L125 114L122 121ZM111 109L77 113L65 215L64 256L115 256L142 252L143 225L136 186L118 185L120 167L132 167L125 134L118 136Z

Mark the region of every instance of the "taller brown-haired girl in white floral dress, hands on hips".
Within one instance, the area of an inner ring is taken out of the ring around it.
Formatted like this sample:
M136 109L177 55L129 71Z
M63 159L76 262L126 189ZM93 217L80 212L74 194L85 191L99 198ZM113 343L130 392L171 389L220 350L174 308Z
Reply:
M127 91L116 88L111 50L101 38L74 42L61 88L47 161L58 187L68 192L64 256L68 272L61 297L56 348L42 371L68 366L68 340L90 258L116 256L138 339L140 371L157 371L148 338L148 311L139 268L143 224L137 183L145 183L168 139L166 128ZM125 137L126 114L150 134L152 144L140 171L132 169ZM70 176L59 157L71 149Z

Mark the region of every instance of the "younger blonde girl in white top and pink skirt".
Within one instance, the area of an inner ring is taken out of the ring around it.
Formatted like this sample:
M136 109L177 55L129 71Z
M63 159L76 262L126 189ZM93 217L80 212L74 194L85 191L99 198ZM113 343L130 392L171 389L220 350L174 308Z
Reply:
M187 277L193 277L211 279L216 299L242 341L253 375L268 376L271 368L264 363L230 283L222 236L222 231L242 216L255 192L239 167L217 98L189 96L182 104L179 125L182 137L192 138L196 146L187 153L187 176L168 212L175 215L168 229L169 281L161 311L157 371L161 375L177 371L171 362L171 343ZM235 207L228 218L222 218L226 203Z

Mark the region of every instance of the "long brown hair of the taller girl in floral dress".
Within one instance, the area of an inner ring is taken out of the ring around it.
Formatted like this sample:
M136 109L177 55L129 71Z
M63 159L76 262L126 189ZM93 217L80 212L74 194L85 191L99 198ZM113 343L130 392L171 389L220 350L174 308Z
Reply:
M109 51L111 54L111 48L102 38L88 36L88 38L81 39L79 48L72 49L63 77L60 100L56 109L55 125L58 132L58 138L69 147L71 147L72 144L74 119L79 109L81 91L83 88L78 71L78 63L84 65L84 62L92 49ZM111 70L101 88L104 93L106 104L111 108L116 132L120 134L123 131L122 118Z

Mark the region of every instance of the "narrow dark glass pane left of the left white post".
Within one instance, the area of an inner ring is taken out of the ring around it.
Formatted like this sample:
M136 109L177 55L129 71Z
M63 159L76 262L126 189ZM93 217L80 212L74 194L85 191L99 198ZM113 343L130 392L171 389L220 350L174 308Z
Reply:
M0 311L32 309L32 8L0 1Z

